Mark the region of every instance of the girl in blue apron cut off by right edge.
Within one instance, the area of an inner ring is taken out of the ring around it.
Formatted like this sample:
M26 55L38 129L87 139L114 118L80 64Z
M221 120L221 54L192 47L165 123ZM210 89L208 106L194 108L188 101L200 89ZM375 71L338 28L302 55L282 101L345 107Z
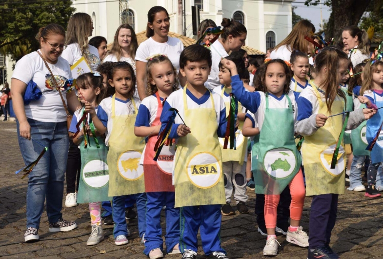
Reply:
M378 109L383 107L383 62L380 60L368 61L363 71L363 84L361 96L358 97L361 103L368 108ZM363 93L363 96L362 96ZM370 143L375 136L381 134L383 110L378 109L377 115L367 120L366 138ZM367 189L364 196L369 198L380 197L380 192L375 188L378 168L383 162L383 142L376 141L371 150L370 165L367 171Z

